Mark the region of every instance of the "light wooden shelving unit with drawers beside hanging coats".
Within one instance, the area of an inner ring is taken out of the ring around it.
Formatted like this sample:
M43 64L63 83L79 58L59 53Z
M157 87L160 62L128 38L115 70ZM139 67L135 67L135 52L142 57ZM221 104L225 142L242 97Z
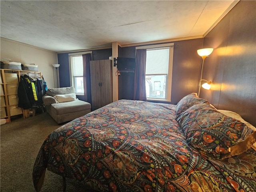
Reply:
M24 110L18 107L18 85L20 76L27 74L28 76L38 76L42 78L41 72L1 69L0 80L0 118L6 119L6 122L11 121L12 116L23 114Z

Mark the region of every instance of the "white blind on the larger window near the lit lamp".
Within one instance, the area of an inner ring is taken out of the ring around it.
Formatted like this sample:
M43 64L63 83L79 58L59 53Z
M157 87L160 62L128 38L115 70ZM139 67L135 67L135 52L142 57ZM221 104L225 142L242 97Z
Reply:
M169 47L147 50L146 75L168 74Z

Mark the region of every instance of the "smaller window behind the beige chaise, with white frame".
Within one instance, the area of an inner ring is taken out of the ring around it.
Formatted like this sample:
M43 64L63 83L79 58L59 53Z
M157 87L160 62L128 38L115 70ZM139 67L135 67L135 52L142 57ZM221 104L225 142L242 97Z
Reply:
M76 94L84 94L84 78L83 78L83 57L82 54L92 52L72 53L69 55L70 62L70 84L75 88Z

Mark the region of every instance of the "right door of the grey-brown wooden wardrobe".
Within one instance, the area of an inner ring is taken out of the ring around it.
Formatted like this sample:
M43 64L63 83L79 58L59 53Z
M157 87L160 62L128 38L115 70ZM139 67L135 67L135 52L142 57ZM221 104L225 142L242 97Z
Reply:
M112 102L112 61L100 60L101 106Z

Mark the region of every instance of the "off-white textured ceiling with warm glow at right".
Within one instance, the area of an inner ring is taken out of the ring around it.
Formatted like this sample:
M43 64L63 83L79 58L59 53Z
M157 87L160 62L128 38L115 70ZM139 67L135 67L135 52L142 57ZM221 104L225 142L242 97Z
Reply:
M198 38L238 1L0 1L1 37L54 52Z

